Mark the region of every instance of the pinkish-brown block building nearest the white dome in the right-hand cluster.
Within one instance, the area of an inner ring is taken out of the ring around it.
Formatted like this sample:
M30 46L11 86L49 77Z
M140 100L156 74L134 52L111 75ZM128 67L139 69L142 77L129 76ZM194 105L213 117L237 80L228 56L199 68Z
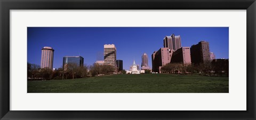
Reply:
M160 48L156 53L152 55L152 66L154 69L153 72L161 73L161 67L170 63L171 55L169 48Z

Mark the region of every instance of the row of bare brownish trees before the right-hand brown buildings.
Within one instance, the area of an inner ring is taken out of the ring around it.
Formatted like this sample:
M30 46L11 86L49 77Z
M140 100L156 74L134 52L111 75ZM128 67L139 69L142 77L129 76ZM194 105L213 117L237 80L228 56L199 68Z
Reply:
M199 74L206 76L228 76L229 62L228 59L222 61L206 61L201 64L182 65L181 63L169 63L161 67L162 73L172 74Z

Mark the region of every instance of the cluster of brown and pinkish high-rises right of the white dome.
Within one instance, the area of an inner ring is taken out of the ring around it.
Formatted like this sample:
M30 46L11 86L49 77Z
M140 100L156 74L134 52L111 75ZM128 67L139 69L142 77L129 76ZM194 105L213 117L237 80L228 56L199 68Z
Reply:
M182 47L181 37L172 34L165 36L163 42L163 48L151 55L152 72L161 73L161 67L168 63L179 63L186 66L215 59L214 53L210 52L207 41L200 41L191 47Z

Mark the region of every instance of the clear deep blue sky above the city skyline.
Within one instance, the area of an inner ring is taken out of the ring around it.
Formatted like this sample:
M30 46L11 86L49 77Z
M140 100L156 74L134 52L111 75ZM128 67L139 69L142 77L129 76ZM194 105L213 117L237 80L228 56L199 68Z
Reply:
M148 55L163 47L163 38L174 33L181 36L181 46L191 47L208 41L216 58L229 58L228 27L28 27L28 62L40 65L41 49L53 47L53 68L62 65L64 56L82 56L84 64L92 65L104 44L115 44L117 59L129 70L135 59L141 65L143 53Z

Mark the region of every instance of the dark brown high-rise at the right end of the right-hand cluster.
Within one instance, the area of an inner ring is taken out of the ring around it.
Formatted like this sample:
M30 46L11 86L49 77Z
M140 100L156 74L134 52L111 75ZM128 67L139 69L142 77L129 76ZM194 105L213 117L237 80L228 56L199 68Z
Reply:
M190 48L191 63L199 65L210 61L210 49L209 42L200 41L198 44L191 46Z

